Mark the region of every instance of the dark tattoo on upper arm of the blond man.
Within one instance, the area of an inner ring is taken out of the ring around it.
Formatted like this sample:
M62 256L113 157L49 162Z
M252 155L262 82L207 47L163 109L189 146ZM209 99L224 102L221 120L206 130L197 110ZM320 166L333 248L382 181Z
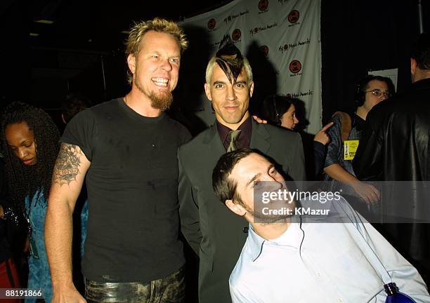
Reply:
M76 145L62 143L54 166L52 184L70 184L79 173L82 152Z

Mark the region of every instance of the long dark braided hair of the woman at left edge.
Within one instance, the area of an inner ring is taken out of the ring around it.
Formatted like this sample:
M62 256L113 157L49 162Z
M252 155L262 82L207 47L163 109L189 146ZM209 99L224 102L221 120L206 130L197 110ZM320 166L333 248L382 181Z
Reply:
M34 134L37 154L37 163L34 166L25 166L6 142L6 127L23 122L27 123ZM43 193L45 201L40 202L46 203L51 189L53 166L60 149L60 133L56 124L44 110L27 103L12 102L1 116L0 137L9 193L15 206L24 208L25 197L28 196L31 201L36 193Z

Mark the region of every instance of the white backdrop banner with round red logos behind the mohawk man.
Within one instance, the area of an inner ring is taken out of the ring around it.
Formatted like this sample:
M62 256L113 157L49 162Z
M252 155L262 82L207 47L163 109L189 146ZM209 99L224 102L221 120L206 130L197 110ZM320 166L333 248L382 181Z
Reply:
M309 121L306 130L316 133L322 112L320 8L321 0L235 0L185 19L181 27L186 33L193 28L204 29L204 39L209 43L207 60L216 53L225 34L230 34L244 55L251 44L259 46L275 68L276 93L303 101ZM255 83L256 89L258 86ZM208 125L214 122L207 100L197 115Z

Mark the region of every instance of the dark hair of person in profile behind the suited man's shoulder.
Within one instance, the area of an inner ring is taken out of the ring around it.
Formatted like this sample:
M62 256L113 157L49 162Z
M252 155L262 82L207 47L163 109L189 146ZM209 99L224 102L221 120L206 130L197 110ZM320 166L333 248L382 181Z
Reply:
M282 115L288 112L291 105L294 105L291 97L269 95L261 103L259 116L268 123L280 126Z

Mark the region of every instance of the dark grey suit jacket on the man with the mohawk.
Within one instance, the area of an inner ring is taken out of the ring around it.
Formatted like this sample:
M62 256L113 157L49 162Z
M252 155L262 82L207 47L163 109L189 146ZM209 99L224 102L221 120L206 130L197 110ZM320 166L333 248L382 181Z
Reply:
M251 148L273 158L293 180L305 180L298 133L252 122ZM231 302L228 278L247 238L248 223L216 198L212 170L226 149L216 124L178 150L181 229L200 256L200 302Z

